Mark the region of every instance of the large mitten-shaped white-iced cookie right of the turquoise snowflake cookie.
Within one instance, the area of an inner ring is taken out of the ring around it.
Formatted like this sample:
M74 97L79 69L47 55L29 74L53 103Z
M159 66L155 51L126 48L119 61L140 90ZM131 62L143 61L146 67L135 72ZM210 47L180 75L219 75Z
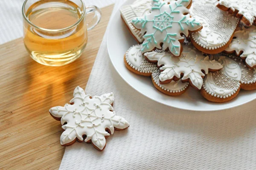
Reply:
M216 7L218 0L193 0L190 14L203 28L191 33L191 42L199 51L218 54L230 44L239 19Z

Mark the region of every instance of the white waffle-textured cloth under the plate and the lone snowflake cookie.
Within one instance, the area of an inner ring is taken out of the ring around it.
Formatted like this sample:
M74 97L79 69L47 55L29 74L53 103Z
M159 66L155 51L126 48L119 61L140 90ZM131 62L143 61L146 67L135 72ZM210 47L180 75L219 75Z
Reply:
M122 1L117 1L113 13ZM256 101L216 112L183 111L154 102L116 73L106 36L86 92L113 92L114 110L130 127L115 131L102 152L80 142L66 147L60 170L256 169Z

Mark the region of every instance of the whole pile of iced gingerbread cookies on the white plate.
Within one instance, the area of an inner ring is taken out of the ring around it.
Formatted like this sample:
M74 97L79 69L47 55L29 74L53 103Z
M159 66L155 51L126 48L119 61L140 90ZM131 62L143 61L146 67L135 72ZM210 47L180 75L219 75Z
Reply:
M212 102L256 89L256 2L253 0L136 0L120 8L139 44L126 67L152 78L164 94L191 86Z

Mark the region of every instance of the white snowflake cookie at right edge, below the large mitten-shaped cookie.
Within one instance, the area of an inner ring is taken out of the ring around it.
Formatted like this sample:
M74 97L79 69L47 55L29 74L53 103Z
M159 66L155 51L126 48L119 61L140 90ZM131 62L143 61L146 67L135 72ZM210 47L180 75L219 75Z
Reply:
M224 52L236 52L237 56L245 59L249 68L256 68L256 26L237 29L231 44Z

